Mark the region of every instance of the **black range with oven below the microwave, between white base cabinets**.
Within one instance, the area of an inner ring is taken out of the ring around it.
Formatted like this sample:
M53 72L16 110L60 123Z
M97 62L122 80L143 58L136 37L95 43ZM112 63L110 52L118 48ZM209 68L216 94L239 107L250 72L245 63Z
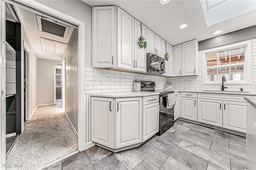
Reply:
M162 135L168 129L170 129L174 125L174 106L170 109L166 108L167 105L167 96L170 93L174 93L171 90L155 90L155 82L152 81L140 81L140 91L146 92L158 92L159 95L159 105L160 105L160 113L159 113L159 132L157 135Z

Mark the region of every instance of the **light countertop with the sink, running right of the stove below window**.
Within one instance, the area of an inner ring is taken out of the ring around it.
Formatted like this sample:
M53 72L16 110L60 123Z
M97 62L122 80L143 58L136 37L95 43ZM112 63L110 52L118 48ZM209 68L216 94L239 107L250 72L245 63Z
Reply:
M176 90L176 89L164 89L164 90L173 90L174 92L194 92L194 93L213 93L213 94L240 94L244 96L256 96L256 92L217 92L217 91L205 91L205 90Z

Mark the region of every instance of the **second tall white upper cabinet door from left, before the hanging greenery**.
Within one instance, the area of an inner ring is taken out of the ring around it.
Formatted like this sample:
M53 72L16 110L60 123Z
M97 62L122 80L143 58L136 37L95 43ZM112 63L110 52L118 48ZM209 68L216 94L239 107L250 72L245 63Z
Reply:
M134 69L134 18L118 8L118 68Z

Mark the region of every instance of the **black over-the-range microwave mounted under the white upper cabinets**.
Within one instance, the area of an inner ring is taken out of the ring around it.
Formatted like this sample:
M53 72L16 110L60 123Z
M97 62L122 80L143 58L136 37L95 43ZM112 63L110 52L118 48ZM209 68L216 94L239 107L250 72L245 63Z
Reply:
M147 72L140 73L146 75L161 75L165 73L165 60L152 53L147 53Z

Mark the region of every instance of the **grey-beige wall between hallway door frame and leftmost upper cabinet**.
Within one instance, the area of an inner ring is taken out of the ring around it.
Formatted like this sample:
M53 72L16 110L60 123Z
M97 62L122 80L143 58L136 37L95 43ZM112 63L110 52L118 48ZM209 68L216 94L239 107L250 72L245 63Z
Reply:
M92 67L92 7L81 0L36 0L85 23L85 66Z

